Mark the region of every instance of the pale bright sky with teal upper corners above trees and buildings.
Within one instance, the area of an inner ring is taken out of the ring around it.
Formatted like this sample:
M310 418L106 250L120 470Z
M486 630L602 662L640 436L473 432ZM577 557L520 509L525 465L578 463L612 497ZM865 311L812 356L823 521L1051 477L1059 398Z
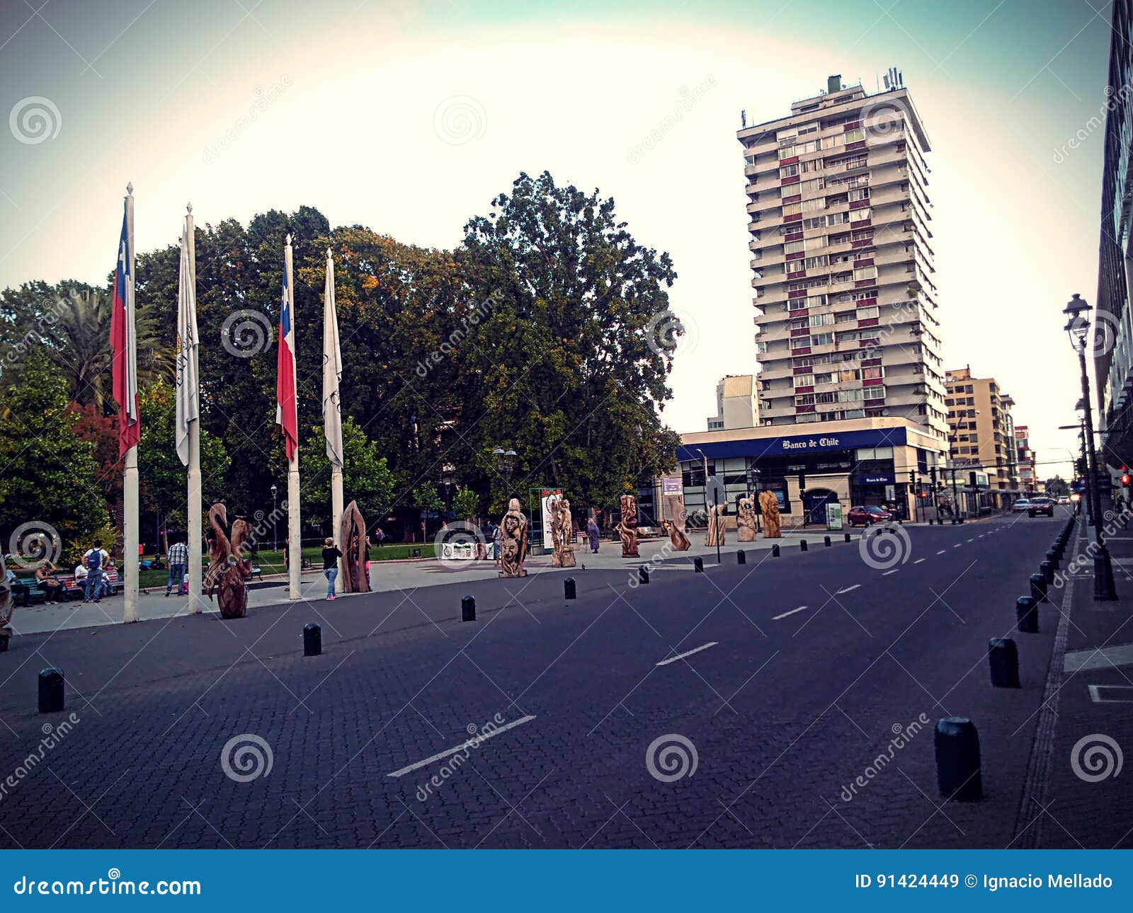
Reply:
M1110 8L1100 0L0 0L0 288L100 283L139 250L316 206L452 247L526 171L597 188L667 250L690 325L664 418L756 368L740 112L897 67L931 143L945 367L995 376L1068 472L1092 300ZM1097 123L1097 120L1093 121ZM205 341L207 343L207 341Z

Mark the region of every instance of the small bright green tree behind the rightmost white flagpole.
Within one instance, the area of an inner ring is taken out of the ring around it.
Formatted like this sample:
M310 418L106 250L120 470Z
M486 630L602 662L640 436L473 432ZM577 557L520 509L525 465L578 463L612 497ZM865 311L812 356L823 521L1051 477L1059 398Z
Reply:
M331 519L331 461L326 459L322 425L310 429L301 453L304 515L327 523ZM342 459L343 505L357 501L366 526L373 528L385 518L393 503L393 472L386 459L378 455L377 444L349 417L342 421Z

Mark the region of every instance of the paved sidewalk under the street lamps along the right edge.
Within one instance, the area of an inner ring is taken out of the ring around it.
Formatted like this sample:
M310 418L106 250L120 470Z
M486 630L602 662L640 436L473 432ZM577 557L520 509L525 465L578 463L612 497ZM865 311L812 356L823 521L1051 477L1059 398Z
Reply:
M1093 600L1087 561L1041 616L1059 630L1013 848L1133 848L1133 527L1109 528L1117 600ZM1092 539L1080 524L1063 572Z

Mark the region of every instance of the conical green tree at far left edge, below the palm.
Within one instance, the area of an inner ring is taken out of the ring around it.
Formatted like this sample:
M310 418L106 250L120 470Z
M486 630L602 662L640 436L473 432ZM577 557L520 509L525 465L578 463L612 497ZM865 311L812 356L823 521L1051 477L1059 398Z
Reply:
M75 434L67 381L40 352L5 392L0 416L0 540L23 523L53 527L70 551L109 521L94 444Z

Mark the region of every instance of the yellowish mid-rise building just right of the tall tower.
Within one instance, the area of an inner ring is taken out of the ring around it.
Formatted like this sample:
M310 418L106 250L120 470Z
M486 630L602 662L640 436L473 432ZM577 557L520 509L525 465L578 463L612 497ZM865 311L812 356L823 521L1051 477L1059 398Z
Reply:
M971 366L945 372L945 386L949 460L957 469L987 473L987 506L1010 506L1019 490L1014 400L994 377L973 377Z

